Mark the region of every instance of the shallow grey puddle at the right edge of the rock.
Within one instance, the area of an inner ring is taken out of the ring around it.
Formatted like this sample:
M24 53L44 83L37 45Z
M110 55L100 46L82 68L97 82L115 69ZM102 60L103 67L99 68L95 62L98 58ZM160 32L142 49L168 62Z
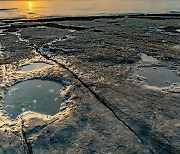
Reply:
M140 67L138 75L145 77L150 86L167 87L180 82L180 77L165 67Z

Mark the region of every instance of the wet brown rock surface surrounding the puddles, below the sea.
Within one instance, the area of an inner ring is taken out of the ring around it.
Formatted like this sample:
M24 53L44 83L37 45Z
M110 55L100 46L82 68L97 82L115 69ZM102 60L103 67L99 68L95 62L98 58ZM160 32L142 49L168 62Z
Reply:
M0 153L179 153L179 16L165 18L0 21ZM47 66L20 71L36 62ZM175 77L151 85L142 68ZM59 112L11 120L3 100L26 80L62 84Z

